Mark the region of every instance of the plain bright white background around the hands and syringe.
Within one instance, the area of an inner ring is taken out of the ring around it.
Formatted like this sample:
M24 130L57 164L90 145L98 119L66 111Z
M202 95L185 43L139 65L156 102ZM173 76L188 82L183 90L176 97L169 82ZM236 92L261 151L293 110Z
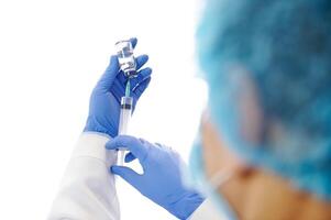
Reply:
M45 219L113 44L139 37L153 80L133 133L187 160L207 89L191 0L0 1L0 218ZM123 182L122 219L175 219Z

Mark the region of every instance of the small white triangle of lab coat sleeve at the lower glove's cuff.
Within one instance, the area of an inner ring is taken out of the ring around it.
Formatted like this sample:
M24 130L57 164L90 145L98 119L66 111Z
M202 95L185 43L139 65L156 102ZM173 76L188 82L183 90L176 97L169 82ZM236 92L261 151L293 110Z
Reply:
M227 220L210 199L206 199L198 209L188 218L189 220Z

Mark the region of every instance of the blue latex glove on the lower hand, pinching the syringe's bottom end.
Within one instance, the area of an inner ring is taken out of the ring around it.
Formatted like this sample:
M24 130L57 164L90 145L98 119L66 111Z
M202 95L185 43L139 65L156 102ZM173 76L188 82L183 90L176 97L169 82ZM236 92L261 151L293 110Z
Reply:
M203 201L203 198L183 183L185 164L179 154L167 146L152 144L142 139L121 135L106 144L108 150L126 146L131 153L129 163L135 157L144 174L124 166L112 166L111 172L121 176L142 195L158 204L179 219L187 219Z

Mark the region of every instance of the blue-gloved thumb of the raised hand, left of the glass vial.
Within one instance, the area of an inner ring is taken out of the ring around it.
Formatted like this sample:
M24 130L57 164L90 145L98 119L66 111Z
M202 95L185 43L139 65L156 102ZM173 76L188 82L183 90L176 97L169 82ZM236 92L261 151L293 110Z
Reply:
M107 67L106 72L99 79L96 88L108 90L111 87L113 80L115 79L119 70L120 70L120 65L119 65L118 57L111 56L109 66Z

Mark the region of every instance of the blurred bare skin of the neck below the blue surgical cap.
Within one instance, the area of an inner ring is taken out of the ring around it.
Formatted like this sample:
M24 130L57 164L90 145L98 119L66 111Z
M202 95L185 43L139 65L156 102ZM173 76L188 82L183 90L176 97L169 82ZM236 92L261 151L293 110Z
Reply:
M255 172L224 185L240 220L330 220L331 204L294 189L273 174Z

